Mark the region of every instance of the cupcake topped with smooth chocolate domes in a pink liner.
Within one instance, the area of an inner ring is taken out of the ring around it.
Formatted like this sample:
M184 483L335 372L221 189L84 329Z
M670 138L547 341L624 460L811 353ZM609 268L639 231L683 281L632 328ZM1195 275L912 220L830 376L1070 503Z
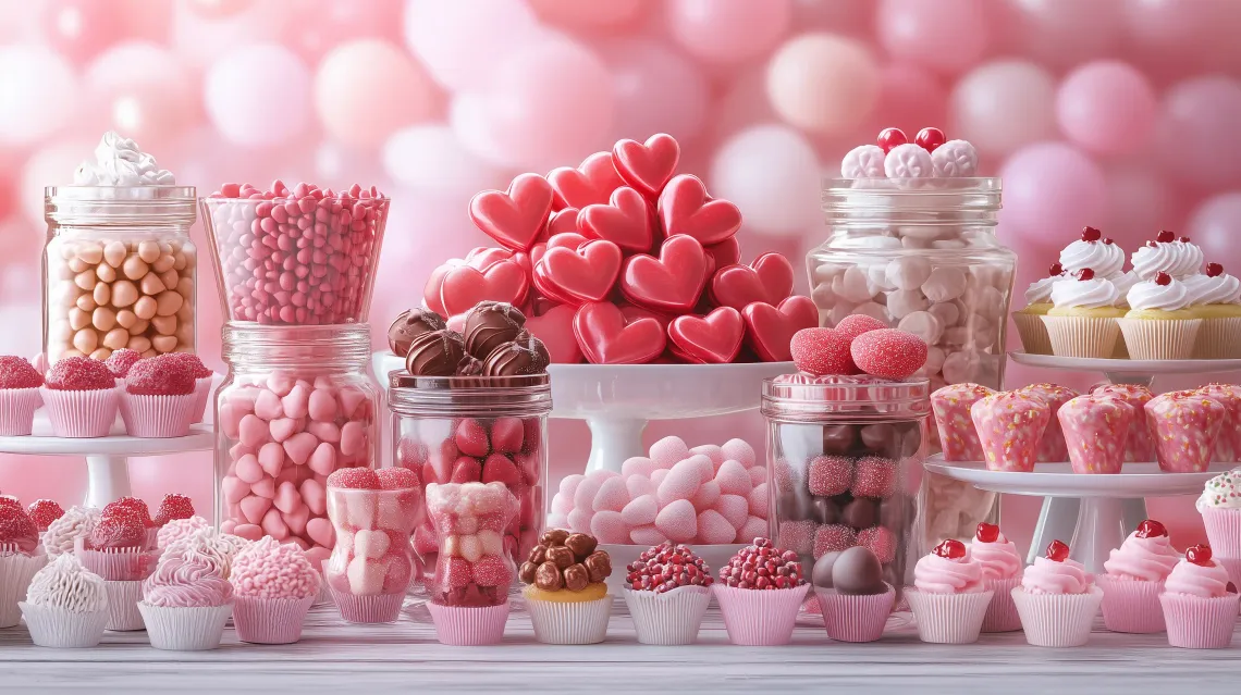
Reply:
M884 636L896 590L869 548L825 553L810 571L823 627L836 642L875 642Z

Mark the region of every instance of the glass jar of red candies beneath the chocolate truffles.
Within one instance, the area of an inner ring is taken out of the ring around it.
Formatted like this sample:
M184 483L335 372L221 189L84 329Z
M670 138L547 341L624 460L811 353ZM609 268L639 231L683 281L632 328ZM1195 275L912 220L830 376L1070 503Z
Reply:
M513 493L520 509L505 525L503 544L504 554L520 565L537 544L545 522L547 374L411 377L392 372L388 408L392 461L417 471L423 486L500 482ZM413 549L432 579L439 544L429 519L414 530Z

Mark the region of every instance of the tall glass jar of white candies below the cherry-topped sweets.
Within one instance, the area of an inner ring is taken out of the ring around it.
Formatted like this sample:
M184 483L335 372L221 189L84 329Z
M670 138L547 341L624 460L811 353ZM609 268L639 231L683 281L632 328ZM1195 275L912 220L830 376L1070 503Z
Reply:
M1016 273L1016 254L995 239L1000 181L830 180L823 203L829 235L807 255L820 325L874 316L927 342L918 375L932 391L963 382L999 389ZM925 484L927 541L973 538L997 515L995 493L938 474Z

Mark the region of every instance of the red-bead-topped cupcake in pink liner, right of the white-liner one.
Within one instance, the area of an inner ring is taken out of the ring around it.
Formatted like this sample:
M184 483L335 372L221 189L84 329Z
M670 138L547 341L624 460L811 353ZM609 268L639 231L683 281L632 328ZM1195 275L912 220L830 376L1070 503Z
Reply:
M809 588L798 554L766 538L738 550L711 586L728 642L747 647L788 644Z

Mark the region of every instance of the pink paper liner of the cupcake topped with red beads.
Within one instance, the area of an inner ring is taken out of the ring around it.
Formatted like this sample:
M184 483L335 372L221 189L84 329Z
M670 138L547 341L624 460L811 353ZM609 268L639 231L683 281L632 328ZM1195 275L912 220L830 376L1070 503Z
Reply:
M711 586L724 613L728 642L746 647L777 647L793 640L797 612L810 585L757 590Z

